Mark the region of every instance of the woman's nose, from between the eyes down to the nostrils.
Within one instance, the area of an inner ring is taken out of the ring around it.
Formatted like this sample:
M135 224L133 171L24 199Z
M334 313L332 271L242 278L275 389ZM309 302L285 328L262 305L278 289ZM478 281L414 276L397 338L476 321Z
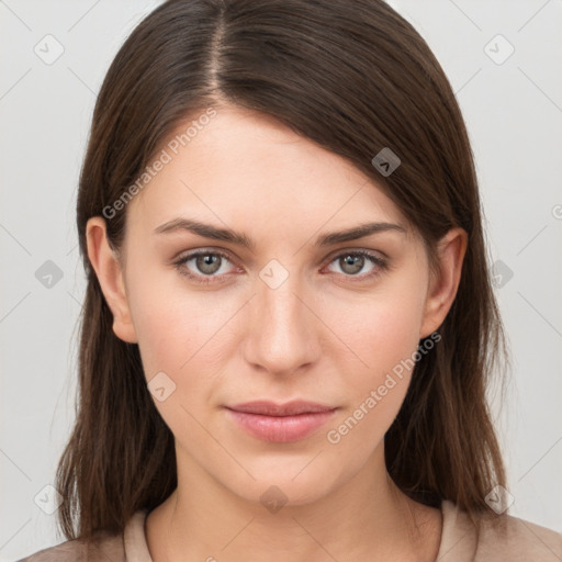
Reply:
M259 273L256 292L247 360L271 372L290 372L313 361L317 334L314 315L302 302L306 290L297 271L271 260Z

